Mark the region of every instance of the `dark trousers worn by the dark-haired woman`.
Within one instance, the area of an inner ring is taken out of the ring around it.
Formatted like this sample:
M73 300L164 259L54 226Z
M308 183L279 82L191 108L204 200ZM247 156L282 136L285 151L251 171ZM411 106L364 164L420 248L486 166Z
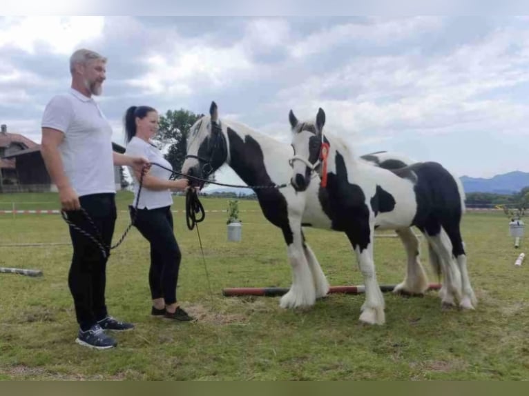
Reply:
M133 214L134 208L131 208L131 216ZM151 268L148 272L151 297L163 297L167 305L175 303L182 253L173 231L171 207L138 209L134 225L151 244Z

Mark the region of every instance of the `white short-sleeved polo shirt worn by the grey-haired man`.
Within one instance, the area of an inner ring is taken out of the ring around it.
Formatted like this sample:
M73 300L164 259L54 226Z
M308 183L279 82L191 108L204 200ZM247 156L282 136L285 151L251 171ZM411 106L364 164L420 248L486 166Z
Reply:
M79 197L116 192L112 128L94 99L74 89L53 97L44 110L42 127L64 133L59 151Z

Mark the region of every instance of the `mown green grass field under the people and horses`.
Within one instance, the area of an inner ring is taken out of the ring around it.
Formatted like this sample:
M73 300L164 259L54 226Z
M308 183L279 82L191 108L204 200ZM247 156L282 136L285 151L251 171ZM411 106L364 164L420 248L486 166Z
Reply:
M132 196L117 199L126 210ZM12 201L17 208L57 208L54 194L0 195L0 210ZM227 208L226 199L202 202L206 210ZM183 208L176 197L173 209ZM385 294L387 323L365 326L358 322L363 295L331 295L308 310L283 310L279 297L222 297L227 287L290 284L282 236L258 209L256 201L240 201L239 243L227 241L226 213L206 214L199 226L206 268L196 230L175 214L183 255L177 295L198 317L191 324L150 317L148 244L131 230L110 257L106 294L110 314L137 326L116 335L113 350L74 343L70 246L0 247L0 266L44 271L39 278L0 273L0 379L529 379L529 262L514 266L529 241L515 250L502 214L468 213L463 220L475 312L441 310L436 292ZM115 240L127 224L119 212ZM331 285L362 284L345 235L305 235ZM0 215L0 246L68 240L59 215ZM422 247L430 281L437 281ZM375 259L380 284L403 279L398 239L377 239Z

